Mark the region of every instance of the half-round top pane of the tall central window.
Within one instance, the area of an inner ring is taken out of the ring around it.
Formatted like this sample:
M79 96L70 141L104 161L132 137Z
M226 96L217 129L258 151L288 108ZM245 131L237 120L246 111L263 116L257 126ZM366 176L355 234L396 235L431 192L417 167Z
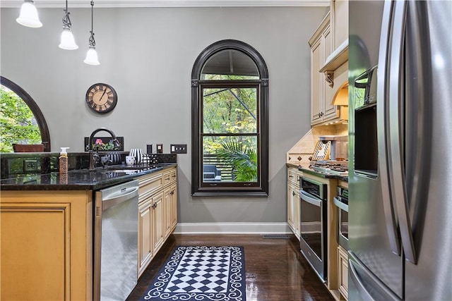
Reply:
M245 75L246 78L234 78ZM256 63L241 51L226 49L211 56L201 70L201 80L258 79Z

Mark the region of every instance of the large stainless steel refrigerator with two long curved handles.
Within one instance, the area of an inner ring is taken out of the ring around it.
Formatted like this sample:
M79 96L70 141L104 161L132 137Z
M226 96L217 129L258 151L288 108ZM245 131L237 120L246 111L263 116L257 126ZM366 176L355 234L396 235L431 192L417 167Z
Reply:
M452 300L452 1L349 9L349 300Z

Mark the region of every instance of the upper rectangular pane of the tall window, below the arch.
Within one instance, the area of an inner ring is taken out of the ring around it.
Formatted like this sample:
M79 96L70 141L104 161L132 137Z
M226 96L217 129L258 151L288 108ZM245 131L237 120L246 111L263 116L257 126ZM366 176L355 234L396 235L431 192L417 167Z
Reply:
M257 133L256 88L203 89L203 133Z

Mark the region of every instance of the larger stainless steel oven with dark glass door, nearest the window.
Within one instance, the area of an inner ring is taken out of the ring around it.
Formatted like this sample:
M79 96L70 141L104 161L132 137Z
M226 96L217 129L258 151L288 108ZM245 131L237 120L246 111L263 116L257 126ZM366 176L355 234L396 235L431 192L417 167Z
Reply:
M300 248L314 271L326 282L327 185L300 177Z

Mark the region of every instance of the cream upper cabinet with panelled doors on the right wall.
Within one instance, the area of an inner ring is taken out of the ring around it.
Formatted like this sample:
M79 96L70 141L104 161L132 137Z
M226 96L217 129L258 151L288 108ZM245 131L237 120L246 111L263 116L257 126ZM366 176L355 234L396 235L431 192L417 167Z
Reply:
M311 47L311 125L337 117L336 107L331 104L333 89L321 73L326 59L332 51L330 13L323 19L314 35L309 39Z

